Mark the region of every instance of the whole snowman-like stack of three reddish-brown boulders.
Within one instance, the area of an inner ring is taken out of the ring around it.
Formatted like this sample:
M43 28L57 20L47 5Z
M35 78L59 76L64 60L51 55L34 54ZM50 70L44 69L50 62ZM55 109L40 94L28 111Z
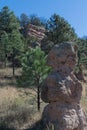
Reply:
M76 61L76 46L70 43L55 45L48 54L53 71L42 85L41 97L48 103L42 114L43 130L50 125L54 130L87 130L80 105L82 85L73 73Z

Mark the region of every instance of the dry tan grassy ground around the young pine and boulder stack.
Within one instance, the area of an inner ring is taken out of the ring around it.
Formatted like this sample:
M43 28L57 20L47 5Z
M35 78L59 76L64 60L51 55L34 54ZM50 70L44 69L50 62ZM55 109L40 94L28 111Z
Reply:
M21 73L16 69L15 75ZM87 81L87 71L84 71ZM82 82L83 95L81 104L87 111L87 82ZM17 87L12 69L0 69L0 130L30 130L35 122L40 120L44 106L41 101L41 111L37 111L36 91L26 87Z

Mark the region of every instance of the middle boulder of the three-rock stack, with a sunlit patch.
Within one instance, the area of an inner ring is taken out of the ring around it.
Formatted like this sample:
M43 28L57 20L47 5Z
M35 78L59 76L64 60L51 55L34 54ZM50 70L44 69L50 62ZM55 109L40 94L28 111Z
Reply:
M41 96L48 103L79 103L81 93L82 86L73 74L64 76L55 71L44 81Z

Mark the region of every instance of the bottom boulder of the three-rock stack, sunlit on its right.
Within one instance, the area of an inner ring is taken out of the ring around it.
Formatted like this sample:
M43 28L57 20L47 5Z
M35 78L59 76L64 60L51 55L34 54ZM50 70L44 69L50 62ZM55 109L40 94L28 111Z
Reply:
M50 124L54 130L87 130L85 116L79 104L49 103L43 112L44 130Z

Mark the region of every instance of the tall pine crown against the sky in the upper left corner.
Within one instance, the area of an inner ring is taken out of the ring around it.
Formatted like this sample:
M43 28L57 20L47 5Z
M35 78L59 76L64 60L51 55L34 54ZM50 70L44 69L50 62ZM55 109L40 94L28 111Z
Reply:
M0 12L0 34L2 34L3 31L11 33L14 29L19 29L19 23L14 13L10 11L8 6L5 6Z

